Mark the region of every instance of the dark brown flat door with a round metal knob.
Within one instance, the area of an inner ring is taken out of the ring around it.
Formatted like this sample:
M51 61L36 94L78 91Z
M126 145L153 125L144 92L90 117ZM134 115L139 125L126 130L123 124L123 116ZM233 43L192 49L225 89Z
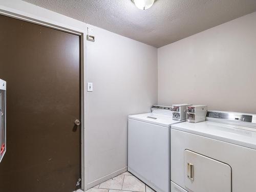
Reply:
M0 191L70 192L80 178L80 37L0 15L7 153Z

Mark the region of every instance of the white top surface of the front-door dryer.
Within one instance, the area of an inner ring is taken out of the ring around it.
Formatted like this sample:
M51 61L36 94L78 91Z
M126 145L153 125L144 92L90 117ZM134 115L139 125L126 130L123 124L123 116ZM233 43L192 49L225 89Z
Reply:
M199 123L182 122L172 129L225 141L256 150L256 129L247 126L212 121Z

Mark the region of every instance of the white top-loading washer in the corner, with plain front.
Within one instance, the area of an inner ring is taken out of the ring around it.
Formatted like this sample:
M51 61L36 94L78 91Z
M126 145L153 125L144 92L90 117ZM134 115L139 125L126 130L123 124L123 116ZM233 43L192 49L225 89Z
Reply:
M170 191L170 127L180 122L159 105L128 119L128 170L158 192Z

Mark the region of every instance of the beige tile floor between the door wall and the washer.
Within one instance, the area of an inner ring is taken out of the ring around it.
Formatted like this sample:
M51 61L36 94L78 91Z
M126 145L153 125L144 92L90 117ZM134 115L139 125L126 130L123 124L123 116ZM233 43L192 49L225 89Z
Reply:
M155 192L129 172L105 181L86 192Z

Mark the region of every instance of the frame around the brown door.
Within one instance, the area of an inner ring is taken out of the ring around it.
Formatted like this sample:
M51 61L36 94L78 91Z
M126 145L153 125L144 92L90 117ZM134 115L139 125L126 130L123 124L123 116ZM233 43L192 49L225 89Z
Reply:
M1 3L1 2L0 2ZM27 2L24 2L27 3ZM14 3L15 4L15 3ZM25 8L23 8L25 9ZM47 10L49 11L49 10ZM58 13L57 13L58 14ZM84 36L87 35L88 33L88 26L86 23L83 23L84 26L81 28L76 28L76 27L72 27L70 25L67 25L65 23L59 23L56 22L55 20L49 20L47 18L43 18L43 17L39 17L37 15L34 14L30 14L27 12L23 12L23 11L19 11L17 9L12 9L12 8L8 8L5 6L0 5L0 15L4 15L4 16L9 16L12 18L16 18L19 20L24 20L26 22L29 23L33 23L33 24L37 24L37 25L41 25L44 27L48 27L48 28L52 28L52 29L56 29L59 31L63 31L63 32L68 32L71 34L75 34L80 36L80 121L81 121L81 125L80 125L80 129L81 129L81 189L82 190L87 190L88 187L85 185L85 174L84 174L84 109L85 109L85 92L84 90L86 90L84 88L84 82L85 82L85 55L86 55L86 38L84 38ZM67 17L68 18L68 17ZM75 20L75 19L74 19ZM75 184L75 183L74 183Z

